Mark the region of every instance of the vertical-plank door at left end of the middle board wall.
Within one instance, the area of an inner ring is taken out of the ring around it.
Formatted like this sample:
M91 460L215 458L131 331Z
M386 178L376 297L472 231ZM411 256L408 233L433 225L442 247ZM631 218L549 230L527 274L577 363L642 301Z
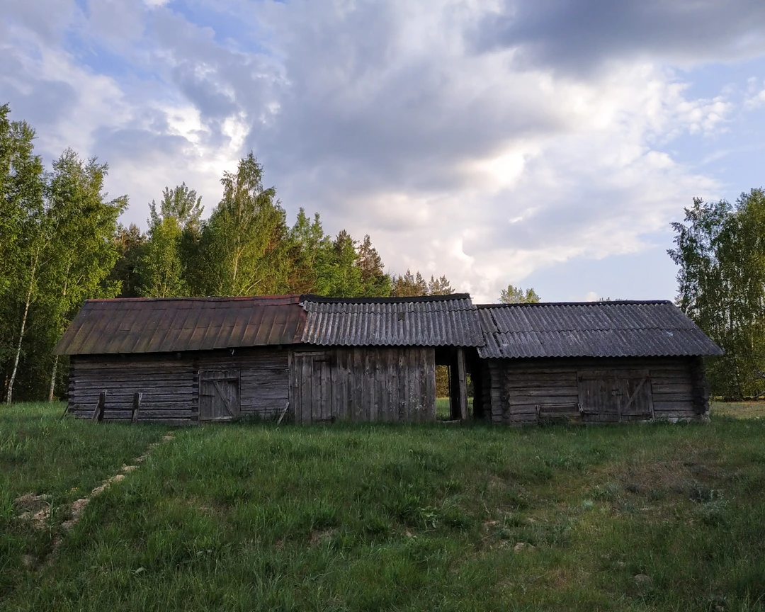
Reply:
M295 422L334 421L330 355L324 351L295 353L292 376Z

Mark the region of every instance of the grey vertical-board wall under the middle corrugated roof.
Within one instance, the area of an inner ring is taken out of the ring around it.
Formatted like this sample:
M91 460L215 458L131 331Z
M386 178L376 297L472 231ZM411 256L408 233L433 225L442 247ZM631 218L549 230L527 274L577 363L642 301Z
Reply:
M295 350L290 384L298 423L435 420L432 347Z

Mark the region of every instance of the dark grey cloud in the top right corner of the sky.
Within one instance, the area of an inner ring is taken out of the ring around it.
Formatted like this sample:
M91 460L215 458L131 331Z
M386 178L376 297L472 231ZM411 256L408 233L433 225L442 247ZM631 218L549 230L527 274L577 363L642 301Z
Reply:
M477 48L515 47L519 63L584 71L643 56L695 64L765 50L761 0L506 0L473 33Z

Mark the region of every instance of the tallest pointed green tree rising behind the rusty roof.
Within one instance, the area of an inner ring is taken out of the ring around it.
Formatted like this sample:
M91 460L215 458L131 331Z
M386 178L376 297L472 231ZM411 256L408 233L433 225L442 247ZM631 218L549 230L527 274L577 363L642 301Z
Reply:
M201 295L268 295L288 288L285 211L252 152L223 174L223 199L204 224L194 271Z

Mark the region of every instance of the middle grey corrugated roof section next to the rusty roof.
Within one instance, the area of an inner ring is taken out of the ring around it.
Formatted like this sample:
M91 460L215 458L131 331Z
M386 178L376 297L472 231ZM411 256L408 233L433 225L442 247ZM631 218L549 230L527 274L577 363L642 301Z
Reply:
M479 347L483 335L468 294L423 298L301 296L303 341L324 346Z

